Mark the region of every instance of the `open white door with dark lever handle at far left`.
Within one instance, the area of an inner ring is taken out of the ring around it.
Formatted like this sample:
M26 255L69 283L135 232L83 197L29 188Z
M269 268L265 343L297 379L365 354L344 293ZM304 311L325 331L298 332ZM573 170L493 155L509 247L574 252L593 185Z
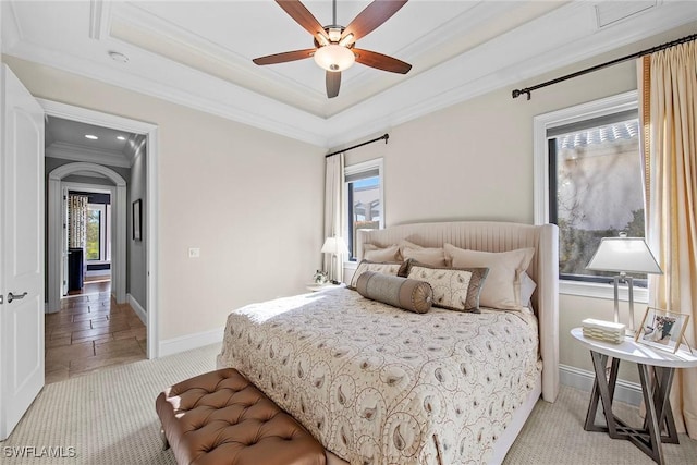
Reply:
M44 110L3 64L0 440L44 387Z

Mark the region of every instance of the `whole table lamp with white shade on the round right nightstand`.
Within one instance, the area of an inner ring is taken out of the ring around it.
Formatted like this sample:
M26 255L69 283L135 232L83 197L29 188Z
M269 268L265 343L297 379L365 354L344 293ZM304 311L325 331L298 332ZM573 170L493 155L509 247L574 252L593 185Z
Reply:
M594 271L614 271L614 322L620 322L620 282L627 283L629 294L629 329L627 334L634 335L634 279L627 273L663 274L653 254L643 237L603 237L586 269Z

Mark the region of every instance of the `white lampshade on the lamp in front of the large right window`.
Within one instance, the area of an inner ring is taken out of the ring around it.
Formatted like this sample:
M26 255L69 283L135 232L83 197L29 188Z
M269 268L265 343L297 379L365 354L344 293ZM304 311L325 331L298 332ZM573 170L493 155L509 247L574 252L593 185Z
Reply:
M663 274L641 237L603 237L588 266L595 271Z

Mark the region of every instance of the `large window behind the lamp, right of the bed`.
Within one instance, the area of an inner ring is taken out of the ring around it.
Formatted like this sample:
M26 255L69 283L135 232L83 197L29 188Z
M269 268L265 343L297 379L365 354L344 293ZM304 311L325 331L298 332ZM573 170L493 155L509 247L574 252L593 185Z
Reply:
M537 117L535 145L536 222L559 225L560 279L607 283L586 269L600 240L644 236L636 93Z

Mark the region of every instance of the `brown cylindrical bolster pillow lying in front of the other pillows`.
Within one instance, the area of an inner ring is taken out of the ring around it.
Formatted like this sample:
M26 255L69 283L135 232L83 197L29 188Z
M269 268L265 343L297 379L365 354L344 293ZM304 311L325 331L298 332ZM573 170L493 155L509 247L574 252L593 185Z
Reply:
M433 291L424 281L416 281L375 271L360 273L356 291L366 298L382 302L415 314L425 314L431 308Z

